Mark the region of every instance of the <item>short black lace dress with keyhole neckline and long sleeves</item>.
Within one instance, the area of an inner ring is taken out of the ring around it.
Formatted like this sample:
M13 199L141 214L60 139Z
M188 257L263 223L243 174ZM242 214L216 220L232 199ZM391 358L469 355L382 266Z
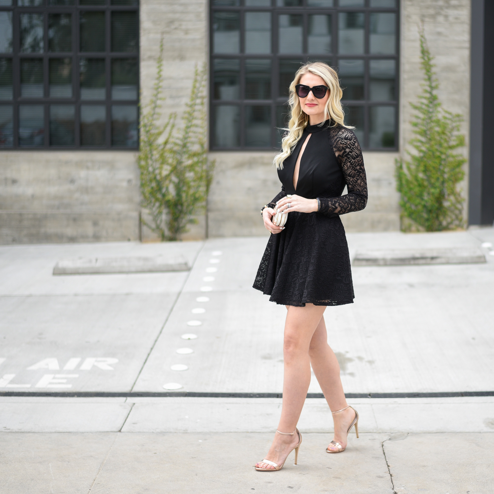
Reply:
M309 125L284 166L278 170L281 192L319 199L317 212L288 213L285 229L271 235L253 287L278 304L304 307L353 303L350 256L340 214L364 209L367 180L359 142L352 130L336 125ZM312 133L300 160L297 189L293 171L307 134ZM348 194L342 196L347 186Z

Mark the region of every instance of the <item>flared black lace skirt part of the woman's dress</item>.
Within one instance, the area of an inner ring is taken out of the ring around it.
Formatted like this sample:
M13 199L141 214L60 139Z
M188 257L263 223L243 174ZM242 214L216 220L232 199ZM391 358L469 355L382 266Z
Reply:
M271 235L253 288L277 304L304 307L353 303L350 255L340 217L291 212Z

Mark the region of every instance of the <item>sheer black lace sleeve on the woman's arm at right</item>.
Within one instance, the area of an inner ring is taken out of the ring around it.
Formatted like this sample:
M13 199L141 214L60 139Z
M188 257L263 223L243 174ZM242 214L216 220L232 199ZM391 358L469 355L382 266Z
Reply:
M319 212L336 216L360 211L367 205L367 179L364 159L359 141L351 129L333 127L329 129L331 146L345 177L348 194L340 197L318 198Z

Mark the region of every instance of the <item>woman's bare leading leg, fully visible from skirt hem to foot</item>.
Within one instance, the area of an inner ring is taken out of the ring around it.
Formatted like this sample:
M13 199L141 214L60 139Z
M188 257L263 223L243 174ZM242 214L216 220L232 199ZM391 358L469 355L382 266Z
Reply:
M288 306L283 344L284 379L283 408L278 430L293 432L307 396L310 384L309 345L314 331L320 324L326 306L306 304L305 307ZM298 436L275 434L273 444L266 459L281 465L288 453L298 443ZM274 469L273 466L259 462L256 466Z

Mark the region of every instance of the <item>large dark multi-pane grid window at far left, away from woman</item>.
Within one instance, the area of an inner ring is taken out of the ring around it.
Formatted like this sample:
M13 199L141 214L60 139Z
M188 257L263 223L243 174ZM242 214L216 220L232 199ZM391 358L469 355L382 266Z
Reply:
M137 149L137 0L0 0L0 149Z

